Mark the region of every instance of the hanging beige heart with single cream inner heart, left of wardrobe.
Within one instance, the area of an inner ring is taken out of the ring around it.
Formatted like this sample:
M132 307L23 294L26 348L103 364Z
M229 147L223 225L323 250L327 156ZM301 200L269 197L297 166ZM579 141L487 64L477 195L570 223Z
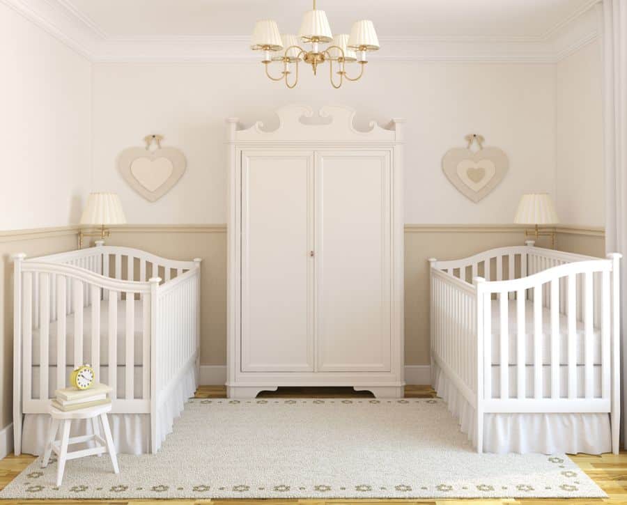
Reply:
M157 149L150 150L156 139ZM148 201L157 201L176 185L185 173L185 155L173 147L161 147L162 137L146 137L146 148L131 147L118 156L118 169L128 185Z

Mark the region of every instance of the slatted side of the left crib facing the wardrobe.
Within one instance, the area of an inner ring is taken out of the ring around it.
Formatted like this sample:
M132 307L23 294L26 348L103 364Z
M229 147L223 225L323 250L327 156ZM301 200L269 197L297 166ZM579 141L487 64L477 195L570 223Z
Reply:
M155 453L165 433L159 433L156 412L190 368L198 373L200 348L200 260L194 268L164 283L150 279L152 307L152 392L150 448ZM196 375L197 378L197 375Z

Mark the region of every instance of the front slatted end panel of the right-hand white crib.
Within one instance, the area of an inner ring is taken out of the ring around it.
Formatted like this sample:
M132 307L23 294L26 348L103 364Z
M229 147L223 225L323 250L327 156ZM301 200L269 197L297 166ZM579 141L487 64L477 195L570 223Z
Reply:
M566 263L542 270L524 279L494 281L479 286L483 300L482 336L485 355L483 371L484 412L612 412L617 414L614 394L619 389L617 362L619 333L618 316L619 257L612 254L607 260L589 260ZM598 289L595 276L600 279ZM560 290L564 284L566 300ZM548 314L545 311L545 295L548 293ZM598 293L598 294L597 294ZM493 380L493 295L497 297L497 340L499 352L496 361L499 380ZM511 296L516 300L513 320L516 322L516 348L509 355ZM601 307L601 324L598 329L601 352L601 370L595 373L594 364L594 306L595 297ZM582 297L582 300L579 298ZM532 328L526 327L525 300L533 300ZM575 306L583 306L582 323L577 318ZM560 308L566 304L566 316ZM562 349L560 318L566 317L566 348ZM582 348L578 343L579 325L582 329ZM545 328L549 327L547 331ZM520 338L522 336L522 338ZM527 342L531 339L532 342ZM545 339L548 341L545 342ZM528 345L532 356L527 356ZM548 347L549 363L545 362L544 346ZM565 358L564 358L565 356ZM583 364L578 362L582 356ZM565 360L565 362L564 362ZM529 365L529 362L531 363ZM522 366L518 366L522 365ZM525 366L526 365L526 366ZM532 380L525 375L527 366L532 367ZM549 373L543 373L548 367ZM582 380L578 367L583 368ZM562 375L566 373L566 380ZM516 370L514 373L513 371ZM515 388L510 387L510 381ZM498 390L495 382L498 382ZM580 384L581 382L581 384ZM513 395L511 395L513 389ZM613 428L613 427L612 427Z

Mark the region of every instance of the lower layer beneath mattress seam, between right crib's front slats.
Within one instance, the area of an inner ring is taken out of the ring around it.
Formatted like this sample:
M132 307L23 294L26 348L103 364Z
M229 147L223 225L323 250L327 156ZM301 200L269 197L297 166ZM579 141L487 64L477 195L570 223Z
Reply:
M518 395L518 366L509 366L509 398L516 398ZM575 368L575 376L577 378L577 398L585 398L585 366L579 365ZM592 367L593 377L593 396L601 398L601 366L594 365ZM550 398L551 396L551 367L544 365L542 367L542 389L543 396ZM534 398L534 367L525 366L525 396ZM501 367L499 365L492 366L492 398L501 397ZM559 366L559 397L568 398L568 366Z

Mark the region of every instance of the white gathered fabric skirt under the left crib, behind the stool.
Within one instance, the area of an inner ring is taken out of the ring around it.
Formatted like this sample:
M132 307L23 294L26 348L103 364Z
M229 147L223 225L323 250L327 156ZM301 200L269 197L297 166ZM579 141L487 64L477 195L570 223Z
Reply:
M194 396L198 378L196 367L189 366L169 398L157 412L157 437L162 442L171 433L180 412L183 412L187 399ZM109 414L109 425L118 453L144 454L150 452L150 415L149 414ZM49 414L24 414L22 426L22 452L39 456L45 449ZM70 436L93 433L91 423L81 419L72 421ZM74 449L79 449L76 446Z

